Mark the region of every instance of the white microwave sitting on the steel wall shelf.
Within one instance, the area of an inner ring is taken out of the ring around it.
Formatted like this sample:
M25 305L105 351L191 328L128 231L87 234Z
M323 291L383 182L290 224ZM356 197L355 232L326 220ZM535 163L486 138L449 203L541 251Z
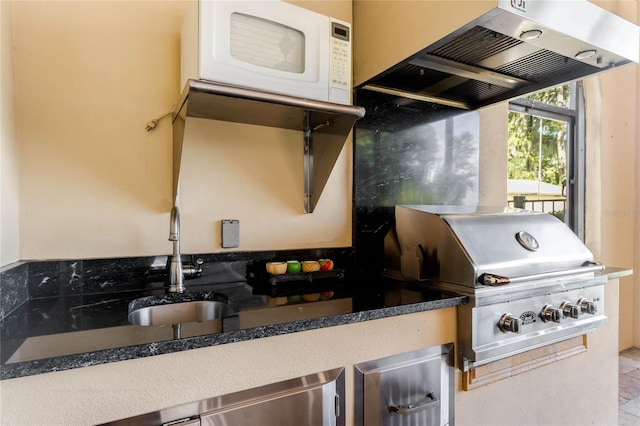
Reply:
M196 79L350 103L350 24L279 0L192 3L181 87Z

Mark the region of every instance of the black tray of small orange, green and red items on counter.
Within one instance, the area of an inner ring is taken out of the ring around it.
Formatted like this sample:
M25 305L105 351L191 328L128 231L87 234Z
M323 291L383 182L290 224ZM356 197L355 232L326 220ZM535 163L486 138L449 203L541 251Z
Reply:
M247 268L253 293L266 295L275 305L334 298L342 290L345 273L331 259L260 262Z

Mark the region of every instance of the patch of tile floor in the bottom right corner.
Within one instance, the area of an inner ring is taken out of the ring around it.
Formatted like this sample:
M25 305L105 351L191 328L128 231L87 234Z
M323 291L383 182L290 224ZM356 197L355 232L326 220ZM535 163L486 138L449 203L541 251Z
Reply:
M640 349L625 349L618 362L618 425L639 426Z

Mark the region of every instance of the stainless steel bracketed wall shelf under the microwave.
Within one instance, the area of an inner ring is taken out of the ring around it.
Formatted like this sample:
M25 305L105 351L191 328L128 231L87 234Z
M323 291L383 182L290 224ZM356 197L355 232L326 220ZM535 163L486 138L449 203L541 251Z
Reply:
M313 134L305 152L305 212L313 212L353 124L364 108L204 80L188 80L173 113L173 196L178 197L184 131L192 118L300 130ZM301 137L302 139L302 137Z

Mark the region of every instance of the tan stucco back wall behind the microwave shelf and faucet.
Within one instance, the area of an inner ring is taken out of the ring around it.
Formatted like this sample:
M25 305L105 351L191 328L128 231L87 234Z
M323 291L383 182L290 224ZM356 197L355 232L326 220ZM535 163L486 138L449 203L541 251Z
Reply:
M302 3L351 21L350 1ZM186 4L13 4L20 259L169 253L171 125L145 125L182 89ZM185 142L183 252L221 251L222 219L240 220L238 250L351 245L350 144L305 215L301 132L201 127Z

